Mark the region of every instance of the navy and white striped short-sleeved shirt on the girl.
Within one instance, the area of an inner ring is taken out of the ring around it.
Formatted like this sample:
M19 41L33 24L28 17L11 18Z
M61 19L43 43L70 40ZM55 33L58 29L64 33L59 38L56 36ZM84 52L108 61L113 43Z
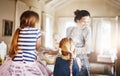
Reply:
M26 27L20 30L18 37L18 54L13 61L34 62L36 55L36 41L41 37L37 28Z

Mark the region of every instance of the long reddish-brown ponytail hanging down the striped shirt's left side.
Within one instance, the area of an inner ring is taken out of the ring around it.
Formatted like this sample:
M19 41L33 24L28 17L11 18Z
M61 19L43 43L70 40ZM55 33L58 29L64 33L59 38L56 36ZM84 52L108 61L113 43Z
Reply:
M17 54L17 50L18 50L18 35L20 32L20 28L17 28L17 30L15 31L13 38L12 38L12 42L10 45L10 49L8 51L8 55L13 59L14 56Z

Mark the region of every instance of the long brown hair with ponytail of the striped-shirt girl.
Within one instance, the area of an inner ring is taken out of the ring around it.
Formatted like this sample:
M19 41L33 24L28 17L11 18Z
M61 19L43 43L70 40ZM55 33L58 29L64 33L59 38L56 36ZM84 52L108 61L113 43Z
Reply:
M22 13L21 17L20 17L20 26L19 28L17 28L17 30L15 31L14 35L13 35L13 39L10 45L10 49L9 49L9 56L11 58L14 57L14 55L17 53L18 50L18 35L21 29L25 28L25 27L35 27L35 25L39 22L39 15L34 12L34 11L25 11Z

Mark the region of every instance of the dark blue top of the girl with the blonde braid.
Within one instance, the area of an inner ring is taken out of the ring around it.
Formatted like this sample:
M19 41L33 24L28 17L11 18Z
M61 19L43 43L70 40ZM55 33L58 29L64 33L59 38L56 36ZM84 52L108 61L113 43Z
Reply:
M56 59L56 64L54 68L54 76L70 76L69 63L70 60L64 60L61 57L58 57ZM73 60L72 71L73 76L80 76L76 60Z

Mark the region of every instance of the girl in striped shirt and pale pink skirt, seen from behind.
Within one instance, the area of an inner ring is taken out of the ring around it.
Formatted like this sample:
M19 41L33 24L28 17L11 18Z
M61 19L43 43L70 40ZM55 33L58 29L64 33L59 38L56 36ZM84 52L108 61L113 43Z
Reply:
M38 22L36 12L23 12L8 52L10 58L0 67L0 76L49 76L44 65L36 61L41 40L41 33L35 28Z

